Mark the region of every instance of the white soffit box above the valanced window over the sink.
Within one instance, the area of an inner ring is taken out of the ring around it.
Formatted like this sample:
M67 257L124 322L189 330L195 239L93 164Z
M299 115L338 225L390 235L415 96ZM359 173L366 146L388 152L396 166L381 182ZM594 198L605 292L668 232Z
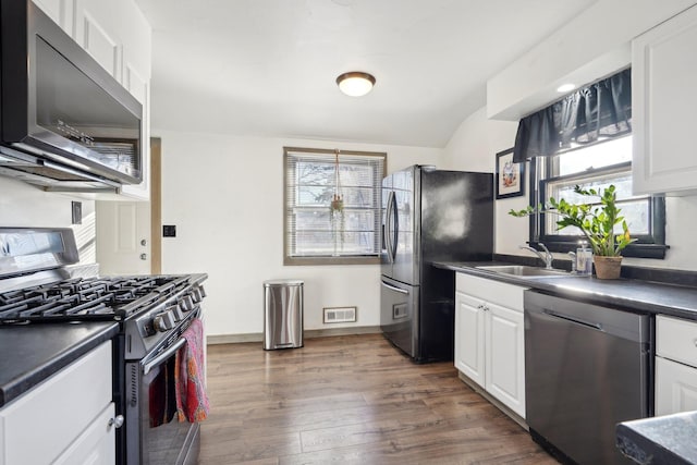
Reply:
M517 121L577 86L631 62L631 40L695 0L598 0L487 83L489 118Z

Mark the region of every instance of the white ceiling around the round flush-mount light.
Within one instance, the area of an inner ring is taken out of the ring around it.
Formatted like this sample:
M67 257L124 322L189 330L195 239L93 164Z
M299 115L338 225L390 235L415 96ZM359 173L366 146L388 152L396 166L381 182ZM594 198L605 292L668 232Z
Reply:
M152 126L443 147L486 82L596 0L136 0ZM377 78L347 97L339 74Z

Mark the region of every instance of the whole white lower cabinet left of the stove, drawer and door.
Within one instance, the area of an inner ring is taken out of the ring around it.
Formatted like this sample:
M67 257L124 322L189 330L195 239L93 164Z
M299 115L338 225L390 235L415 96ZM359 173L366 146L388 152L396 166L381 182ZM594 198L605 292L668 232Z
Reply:
M0 408L0 465L113 464L111 342Z

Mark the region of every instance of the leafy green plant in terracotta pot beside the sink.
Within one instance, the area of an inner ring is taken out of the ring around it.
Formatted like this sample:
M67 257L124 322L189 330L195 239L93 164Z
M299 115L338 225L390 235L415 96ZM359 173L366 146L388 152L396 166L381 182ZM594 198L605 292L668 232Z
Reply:
M624 217L620 216L616 206L616 193L614 185L606 189L582 188L575 186L574 192L582 196L599 197L600 206L591 204L570 204L566 200L557 200L550 197L547 206L537 208L527 207L524 210L511 210L509 215L514 217L527 217L536 211L558 215L557 229L576 227L586 236L594 253L596 276L599 279L617 279L622 264L622 249L632 244L635 238L629 235ZM614 228L622 224L622 233L615 234Z

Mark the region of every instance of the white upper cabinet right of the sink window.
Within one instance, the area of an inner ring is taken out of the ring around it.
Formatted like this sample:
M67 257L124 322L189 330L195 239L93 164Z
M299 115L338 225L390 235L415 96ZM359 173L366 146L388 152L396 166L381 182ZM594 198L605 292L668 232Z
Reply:
M632 44L635 194L697 193L697 7Z

